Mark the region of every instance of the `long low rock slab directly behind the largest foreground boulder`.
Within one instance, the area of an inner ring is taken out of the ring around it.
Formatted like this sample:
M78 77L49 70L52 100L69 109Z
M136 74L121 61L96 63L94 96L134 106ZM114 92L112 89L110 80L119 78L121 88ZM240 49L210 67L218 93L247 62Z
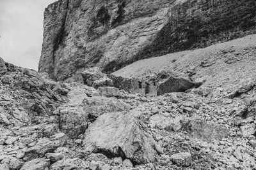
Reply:
M130 110L131 106L115 97L90 97L83 101L83 107L90 122L104 113Z

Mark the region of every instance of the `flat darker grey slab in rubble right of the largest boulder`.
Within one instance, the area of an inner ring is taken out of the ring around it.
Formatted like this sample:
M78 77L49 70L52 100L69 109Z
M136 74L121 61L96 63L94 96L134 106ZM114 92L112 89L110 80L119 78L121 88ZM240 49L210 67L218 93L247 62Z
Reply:
M214 139L227 138L230 134L227 128L222 125L216 125L213 122L196 119L190 122L190 128L193 136L210 143Z

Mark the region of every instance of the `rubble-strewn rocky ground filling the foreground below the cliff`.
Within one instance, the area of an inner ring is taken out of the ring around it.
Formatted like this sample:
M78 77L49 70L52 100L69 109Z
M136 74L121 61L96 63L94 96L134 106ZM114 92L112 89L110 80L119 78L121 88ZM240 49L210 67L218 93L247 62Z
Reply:
M240 49L216 57L232 56L228 69L254 59L253 46ZM232 81L153 96L116 89L102 73L56 82L0 60L0 169L256 169L256 81L243 66L225 75Z

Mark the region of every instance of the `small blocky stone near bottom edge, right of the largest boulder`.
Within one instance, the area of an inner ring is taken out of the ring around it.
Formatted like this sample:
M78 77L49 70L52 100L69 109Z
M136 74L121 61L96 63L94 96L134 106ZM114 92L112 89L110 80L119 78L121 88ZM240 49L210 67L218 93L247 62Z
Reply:
M192 157L189 152L181 152L171 155L171 160L178 166L189 166L192 162Z

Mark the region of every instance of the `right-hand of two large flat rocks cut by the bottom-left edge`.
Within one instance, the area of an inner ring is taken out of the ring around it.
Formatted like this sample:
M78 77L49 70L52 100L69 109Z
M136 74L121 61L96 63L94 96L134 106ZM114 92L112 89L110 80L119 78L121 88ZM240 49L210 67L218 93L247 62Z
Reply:
M58 160L54 164L51 164L49 170L58 170L58 169L77 169L77 165L74 163L77 159L65 159Z

